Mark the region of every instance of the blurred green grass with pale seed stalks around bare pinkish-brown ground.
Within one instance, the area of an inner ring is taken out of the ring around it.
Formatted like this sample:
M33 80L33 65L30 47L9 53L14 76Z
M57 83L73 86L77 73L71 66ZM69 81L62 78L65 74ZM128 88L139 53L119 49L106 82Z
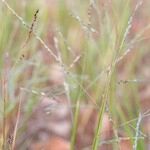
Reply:
M148 149L149 130L142 121L150 113L149 102L144 103L149 95L141 94L149 87L150 70L144 61L150 52L148 4L1 0L1 149L20 149L22 133L28 131L28 120L43 97L65 97L72 118L71 149L105 149L103 144L123 149L121 138L129 149ZM93 113L96 118L88 142L78 140L82 105L92 110L86 118ZM105 140L106 114L113 134ZM21 149L27 149L28 141Z

